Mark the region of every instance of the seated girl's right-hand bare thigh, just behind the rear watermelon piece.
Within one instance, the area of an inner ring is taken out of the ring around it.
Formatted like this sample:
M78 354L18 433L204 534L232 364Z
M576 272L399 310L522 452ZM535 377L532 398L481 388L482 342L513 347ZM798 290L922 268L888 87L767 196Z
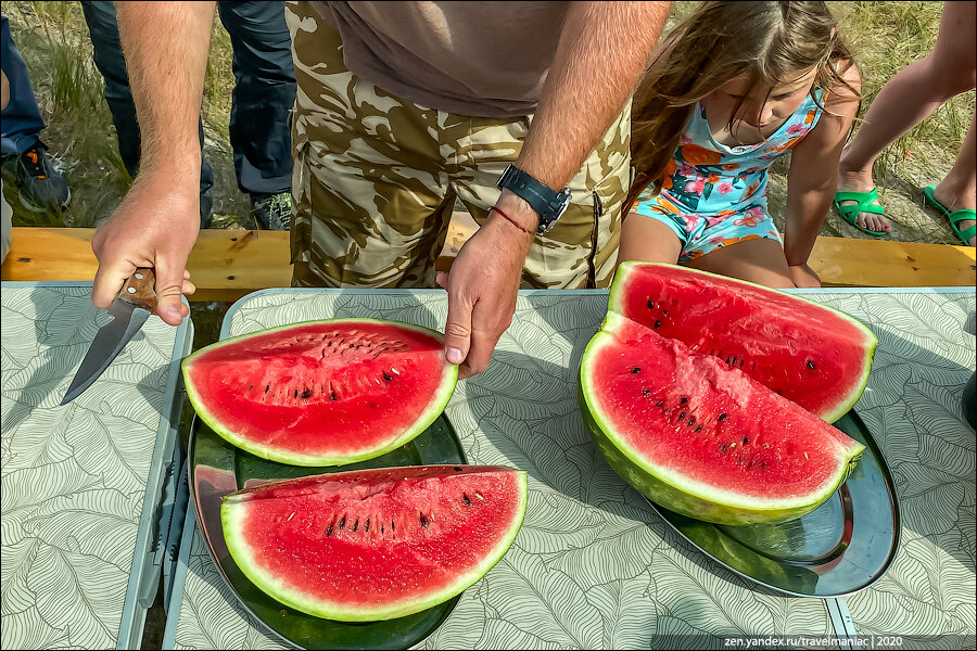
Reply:
M745 240L721 246L700 258L686 263L687 267L748 280L769 288L794 288L784 247L776 240Z

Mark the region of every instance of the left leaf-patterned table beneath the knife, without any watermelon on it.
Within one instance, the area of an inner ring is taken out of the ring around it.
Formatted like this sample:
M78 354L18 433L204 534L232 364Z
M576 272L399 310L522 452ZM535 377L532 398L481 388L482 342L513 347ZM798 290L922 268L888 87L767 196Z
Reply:
M61 407L107 312L91 305L91 283L3 282L0 296L0 647L139 648L192 326L151 317Z

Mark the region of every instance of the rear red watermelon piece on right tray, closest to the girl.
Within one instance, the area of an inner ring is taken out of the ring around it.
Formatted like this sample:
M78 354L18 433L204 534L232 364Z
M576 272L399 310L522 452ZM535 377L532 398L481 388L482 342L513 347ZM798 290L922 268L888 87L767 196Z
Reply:
M723 359L829 423L862 395L877 343L829 307L676 265L623 263L608 309Z

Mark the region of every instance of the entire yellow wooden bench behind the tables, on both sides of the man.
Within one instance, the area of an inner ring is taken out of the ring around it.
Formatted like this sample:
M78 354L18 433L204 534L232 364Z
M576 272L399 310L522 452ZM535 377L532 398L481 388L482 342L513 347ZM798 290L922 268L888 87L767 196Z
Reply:
M452 220L437 268L451 267L473 228L470 219ZM93 234L86 228L14 228L0 278L90 281L98 268ZM825 286L970 286L977 273L972 247L888 240L817 238L810 264ZM289 233L201 231L188 268L198 286L193 301L233 302L255 290L289 286Z

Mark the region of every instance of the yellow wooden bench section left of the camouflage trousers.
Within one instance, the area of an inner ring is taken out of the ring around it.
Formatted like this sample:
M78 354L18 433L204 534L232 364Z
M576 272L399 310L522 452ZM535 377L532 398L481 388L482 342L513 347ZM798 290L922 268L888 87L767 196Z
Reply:
M0 278L91 281L98 270L92 235L90 228L14 228ZM289 259L287 231L203 230L187 261L198 286L192 299L232 302L255 290L287 288Z

